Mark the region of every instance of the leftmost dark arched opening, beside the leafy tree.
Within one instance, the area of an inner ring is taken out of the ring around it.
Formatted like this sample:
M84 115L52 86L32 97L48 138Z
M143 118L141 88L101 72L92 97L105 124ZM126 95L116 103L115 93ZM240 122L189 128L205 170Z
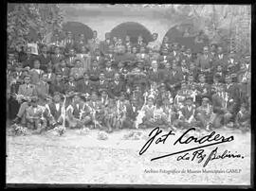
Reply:
M74 39L77 40L80 34L84 34L84 39L87 40L93 37L93 30L80 22L66 22L63 25L64 32L71 31Z

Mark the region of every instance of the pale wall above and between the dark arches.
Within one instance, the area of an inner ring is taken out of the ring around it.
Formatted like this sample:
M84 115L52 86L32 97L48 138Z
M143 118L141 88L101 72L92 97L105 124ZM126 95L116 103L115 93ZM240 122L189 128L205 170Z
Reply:
M182 23L181 21L177 23L165 17L161 12L162 9L102 9L101 7L91 8L86 5L63 8L66 22L80 22L93 30L97 30L100 40L104 40L105 33L110 32L115 26L126 22L136 22L145 26L151 33L158 33L158 39L162 41L170 28Z

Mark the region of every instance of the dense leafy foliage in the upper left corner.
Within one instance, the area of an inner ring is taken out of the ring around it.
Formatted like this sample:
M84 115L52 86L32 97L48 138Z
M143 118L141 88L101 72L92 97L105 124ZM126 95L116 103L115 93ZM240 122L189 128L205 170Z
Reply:
M61 31L63 20L62 9L57 4L9 4L9 49L19 49L28 42L42 41L48 34ZM37 32L35 37L31 31Z

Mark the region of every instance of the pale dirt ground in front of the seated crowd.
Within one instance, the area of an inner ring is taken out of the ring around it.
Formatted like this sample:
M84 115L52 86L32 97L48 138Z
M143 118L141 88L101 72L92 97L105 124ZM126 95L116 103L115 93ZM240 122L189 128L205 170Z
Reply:
M139 140L123 140L128 130L115 131L107 140L98 140L97 130L86 135L67 130L61 137L48 134L7 136L7 183L249 184L249 132L220 131L226 137L233 135L234 141L205 148L206 153L218 147L220 154L228 149L245 158L218 159L210 161L206 167L196 161L177 161L177 156L151 161L154 157L185 149L171 145L180 132L164 145L155 145L139 155L149 132L143 130L144 138ZM206 173L203 169L223 172ZM239 172L230 172L230 169ZM184 173L180 172L182 170Z

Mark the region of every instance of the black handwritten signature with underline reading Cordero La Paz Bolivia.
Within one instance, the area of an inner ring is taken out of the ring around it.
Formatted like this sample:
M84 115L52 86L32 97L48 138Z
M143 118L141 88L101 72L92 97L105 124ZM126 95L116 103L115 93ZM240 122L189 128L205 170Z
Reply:
M205 135L203 137L194 137L194 136L187 136L188 133L192 130L195 130L194 128L191 128L189 130L186 130L181 136L178 137L178 139L175 140L174 146L177 144L181 145L187 145L190 143L198 143L199 147L195 148L189 148L189 149L184 149L180 150L178 152L162 155L155 157L151 159L151 161L155 161L161 158L165 157L170 157L176 154L179 154L177 157L177 161L181 160L194 160L198 159L198 164L202 163L205 159L204 167L209 164L210 161L215 160L215 159L224 159L224 158L244 158L241 154L231 154L230 151L225 150L221 155L217 153L218 148L214 148L211 152L210 155L207 157L207 154L205 153L205 150L203 148L208 148L210 146L214 145L219 145L219 144L224 144L228 143L234 140L234 137L231 135L229 137L224 137L221 136L220 134L216 133L215 131L210 132L210 134ZM168 133L161 135L162 130L160 130L158 127L152 130L149 133L150 139L146 142L146 144L140 149L139 155L142 155L148 148L151 147L151 145L155 142L155 145L162 143L165 144L166 140L172 136L175 135L173 130L170 130ZM161 136L160 136L161 135ZM204 143L210 143L210 144L204 144ZM190 155L190 151L195 150L192 152L192 155ZM181 154L182 153L182 154ZM180 155L181 154L181 155Z

